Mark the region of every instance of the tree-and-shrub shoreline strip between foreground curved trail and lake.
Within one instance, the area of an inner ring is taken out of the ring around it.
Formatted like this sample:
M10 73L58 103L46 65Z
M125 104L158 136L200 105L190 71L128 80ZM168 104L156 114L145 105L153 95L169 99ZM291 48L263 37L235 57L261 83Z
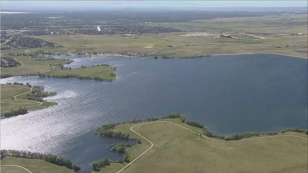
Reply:
M130 145L130 144L128 145L127 143L124 143L124 144L110 145L110 146L107 147L107 149L110 150L110 151L124 152L125 157L130 157L130 155L134 155L133 159L135 159L136 154L132 153L132 152L136 152L136 151L133 148L138 147L139 144L142 144L142 141L139 138L136 138L136 135L134 133L131 133L131 135L129 135L130 134L129 127L132 126L132 125L129 125L129 124L136 124L136 123L143 123L143 122L154 122L154 121L171 121L171 122L180 124L182 126L184 126L184 124L187 124L187 126L185 126L185 127L192 129L193 131L200 131L201 132L200 136L202 134L202 135L208 136L208 137L213 138L213 139L222 140L222 142L223 141L237 141L237 140L241 140L241 139L248 139L248 138L253 138L254 136L256 136L256 137L262 136L263 137L263 136L283 135L284 133L287 133L287 132L298 132L298 133L301 133L301 134L308 135L308 129L300 129L300 128L297 128L297 127L282 129L280 131L280 134L278 132L268 131L268 132L235 133L235 134L230 135L230 136L217 135L217 134L214 134L213 132L208 131L204 127L204 125L202 125L201 123L186 120L185 116L182 115L182 114L179 114L179 113L168 114L168 115L162 116L162 117L152 117L152 118L147 118L147 119L132 119L130 121L124 121L122 123L103 124L99 128L96 128L94 130L94 134L97 134L97 131L99 131L99 132L112 131L108 134L113 134L113 135L106 135L105 136L104 133L100 133L99 135L103 136L103 137L115 137L115 138L122 138L122 137L120 135L114 135L114 134L128 134L128 136L132 136L132 138L129 138L129 139L136 140L137 143L135 145ZM117 127L119 127L119 129ZM110 130L110 129L113 129L113 130ZM132 147L132 149L131 149L131 147ZM144 150L146 150L146 147L139 146L138 148L144 148ZM138 152L139 152L139 150L138 150ZM124 162L122 162L121 159L119 159L118 161L109 160L108 164L103 164L103 165L101 164L101 166L98 166L100 164L98 162L95 162L94 165L92 165L92 168L93 168L94 172L98 172L98 171L116 172L116 171L120 170L121 166L113 165L113 164L115 164L115 163L124 164L124 163L129 163L129 162L130 162L129 159L125 159ZM125 165L123 165L123 166L125 166Z

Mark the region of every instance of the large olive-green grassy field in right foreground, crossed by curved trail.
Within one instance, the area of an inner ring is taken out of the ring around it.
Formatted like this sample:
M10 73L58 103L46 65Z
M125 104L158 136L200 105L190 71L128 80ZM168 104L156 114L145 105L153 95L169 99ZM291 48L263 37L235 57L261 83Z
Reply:
M201 129L168 119L193 131ZM115 131L130 133L131 138L140 138L130 127L123 124ZM307 139L293 136L251 139L236 142L219 142L200 136L175 124L149 123L133 128L149 139L153 147L122 172L305 172L308 162ZM279 135L300 135L287 132ZM142 138L141 138L142 139ZM150 143L127 148L131 160L135 159ZM295 147L296 146L296 147ZM101 172L117 172L127 163L111 163Z

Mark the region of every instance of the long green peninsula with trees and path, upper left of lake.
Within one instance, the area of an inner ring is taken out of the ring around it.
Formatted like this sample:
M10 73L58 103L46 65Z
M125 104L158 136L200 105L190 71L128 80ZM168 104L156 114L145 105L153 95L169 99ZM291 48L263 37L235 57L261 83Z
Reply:
M74 61L65 58L57 59L52 56L51 52L45 52L43 50L35 51L34 53L9 53L8 55L10 58L13 58L14 61L17 61L19 66L0 68L0 78L39 76L94 79L107 82L116 80L116 67L109 66L108 64L97 64L91 67L81 66L78 68L64 67L63 64L70 64Z

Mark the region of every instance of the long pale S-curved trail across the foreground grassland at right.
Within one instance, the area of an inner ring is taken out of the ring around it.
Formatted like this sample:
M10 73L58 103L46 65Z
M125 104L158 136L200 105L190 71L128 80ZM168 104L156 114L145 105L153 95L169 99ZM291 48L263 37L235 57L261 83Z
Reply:
M172 124L175 124L177 126L180 126L180 127L183 127L184 129L187 129L193 133L196 133L197 135L200 135L198 134L197 132L195 131L192 131L184 126L181 126L180 124L177 124L177 123L173 123L173 122L170 122L170 121L153 121L153 122L148 122L148 123L158 123L158 122L167 122L167 123L172 123ZM153 147L153 143L146 139L145 137L143 137L142 135L140 135L139 133L137 133L136 131L134 131L132 128L135 127L135 126L139 126L139 125L143 125L143 124L148 124L148 123L141 123L141 124L136 124L134 126L131 127L131 131L136 133L137 135L139 135L141 138L147 140L148 142L151 143L151 147L149 147L146 151L144 151L143 153L141 153L136 159L134 159L132 162L128 163L128 165L126 165L125 167L123 167L120 171L116 172L116 173L120 173L121 171L123 171L125 168L127 168L129 165L131 165L132 163L134 163L137 159L139 159L142 155L144 155L144 153L146 153L148 150L150 150L152 147ZM206 139L210 139L210 140L213 140L213 141L219 141L219 142L238 142L238 141L245 141L245 140L252 140L252 139L260 139L260 138L271 138L271 137L278 137L278 136L294 136L294 137L299 137L299 138L305 138L305 137L302 137L302 136L296 136L296 135L277 135L277 136L263 136L263 137L257 137L257 138L249 138L249 139L241 139L241 140L236 140L236 141L222 141L222 140L217 140L217 139L212 139L212 138L209 138L207 136L204 136L204 135L201 135L202 137L206 138ZM308 138L305 138L305 139L308 139Z

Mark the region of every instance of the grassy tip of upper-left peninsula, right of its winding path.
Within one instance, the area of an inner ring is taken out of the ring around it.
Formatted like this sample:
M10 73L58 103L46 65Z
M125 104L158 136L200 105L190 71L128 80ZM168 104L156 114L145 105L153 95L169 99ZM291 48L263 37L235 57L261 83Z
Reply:
M67 74L75 74L83 77L100 77L105 80L115 80L115 73L113 71L113 67L111 66L94 66L87 68L73 68L71 70L61 70L61 68L57 65L54 65L55 68L51 71L48 71L44 74L50 75L67 75ZM114 75L114 76L112 76Z

